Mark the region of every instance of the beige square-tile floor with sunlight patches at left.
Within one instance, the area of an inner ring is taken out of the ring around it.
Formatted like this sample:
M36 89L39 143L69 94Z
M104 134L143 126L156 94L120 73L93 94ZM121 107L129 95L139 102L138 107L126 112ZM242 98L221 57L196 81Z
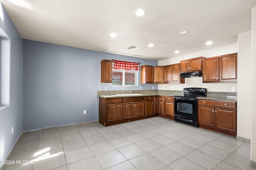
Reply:
M250 143L162 117L26 133L9 160L4 170L256 170Z

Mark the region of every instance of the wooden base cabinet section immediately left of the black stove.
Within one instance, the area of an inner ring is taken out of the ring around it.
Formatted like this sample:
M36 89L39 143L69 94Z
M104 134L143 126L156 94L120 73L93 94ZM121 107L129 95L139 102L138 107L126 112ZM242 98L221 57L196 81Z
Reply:
M158 115L174 120L174 97L159 96Z

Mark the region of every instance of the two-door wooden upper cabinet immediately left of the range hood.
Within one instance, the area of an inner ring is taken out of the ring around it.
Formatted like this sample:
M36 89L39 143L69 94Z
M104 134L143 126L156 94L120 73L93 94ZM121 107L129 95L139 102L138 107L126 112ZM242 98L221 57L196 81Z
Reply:
M164 83L185 83L185 78L180 78L180 63L164 66Z

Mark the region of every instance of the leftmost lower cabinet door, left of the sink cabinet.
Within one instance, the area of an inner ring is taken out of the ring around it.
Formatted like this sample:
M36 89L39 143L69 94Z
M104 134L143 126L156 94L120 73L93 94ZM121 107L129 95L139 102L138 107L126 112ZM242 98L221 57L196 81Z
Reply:
M123 119L123 104L106 105L106 121L119 121Z

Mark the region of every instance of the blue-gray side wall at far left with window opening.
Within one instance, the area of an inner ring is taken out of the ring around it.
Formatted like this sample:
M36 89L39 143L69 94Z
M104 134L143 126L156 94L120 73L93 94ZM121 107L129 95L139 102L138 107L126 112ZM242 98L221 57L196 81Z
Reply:
M22 38L2 4L0 13L0 29L10 38L10 105L0 110L0 160L5 160L22 133Z

